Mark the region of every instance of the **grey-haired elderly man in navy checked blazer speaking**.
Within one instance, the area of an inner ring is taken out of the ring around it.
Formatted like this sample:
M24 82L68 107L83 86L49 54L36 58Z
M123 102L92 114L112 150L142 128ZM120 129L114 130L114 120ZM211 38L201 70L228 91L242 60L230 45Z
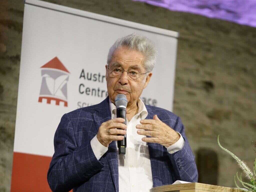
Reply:
M110 48L105 66L109 96L63 115L56 130L47 174L52 191L149 191L175 180L197 182L180 118L139 98L156 55L152 42L136 34L118 39ZM118 94L128 100L127 125L116 118ZM125 134L126 154L119 155L116 141Z

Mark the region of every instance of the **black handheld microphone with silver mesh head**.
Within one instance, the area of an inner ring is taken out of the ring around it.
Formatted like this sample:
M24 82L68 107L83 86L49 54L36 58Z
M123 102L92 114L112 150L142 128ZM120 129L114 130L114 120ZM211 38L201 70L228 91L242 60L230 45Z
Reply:
M126 125L126 106L127 106L127 98L124 94L118 94L115 97L115 106L116 106L116 117L123 118L124 124ZM124 139L122 141L117 141L117 147L119 149L119 155L125 154L126 148L126 134L124 135Z

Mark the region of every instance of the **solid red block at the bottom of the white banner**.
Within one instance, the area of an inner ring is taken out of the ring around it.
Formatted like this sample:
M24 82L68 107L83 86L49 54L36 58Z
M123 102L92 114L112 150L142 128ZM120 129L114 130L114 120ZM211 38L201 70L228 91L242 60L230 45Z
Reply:
M47 182L47 171L51 157L13 153L11 192L51 191Z

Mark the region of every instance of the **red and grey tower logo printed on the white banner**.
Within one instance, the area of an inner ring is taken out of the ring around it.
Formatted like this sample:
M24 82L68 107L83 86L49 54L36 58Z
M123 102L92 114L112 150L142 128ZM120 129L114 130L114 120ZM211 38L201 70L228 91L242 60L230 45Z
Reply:
M48 104L51 101L55 101L56 105L60 105L60 102L63 102L64 106L67 107L69 71L61 61L55 57L43 65L41 67L41 76L42 82L38 102L42 102L43 99L47 100Z

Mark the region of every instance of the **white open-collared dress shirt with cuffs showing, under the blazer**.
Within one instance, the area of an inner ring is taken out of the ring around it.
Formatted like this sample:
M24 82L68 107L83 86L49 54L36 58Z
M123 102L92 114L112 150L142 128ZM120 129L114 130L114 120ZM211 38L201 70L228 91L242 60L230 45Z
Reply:
M112 119L116 118L116 106L109 100ZM141 99L138 100L138 113L130 122L126 119L126 153L118 155L119 191L121 192L148 192L153 187L151 163L148 145L142 141L145 135L137 133L136 125L148 115L146 106ZM166 147L169 153L175 153L183 148L185 141L180 135L179 140L173 145ZM117 142L116 142L117 145ZM96 135L91 140L94 155L99 160L108 148L102 145ZM117 148L118 153L118 148Z

